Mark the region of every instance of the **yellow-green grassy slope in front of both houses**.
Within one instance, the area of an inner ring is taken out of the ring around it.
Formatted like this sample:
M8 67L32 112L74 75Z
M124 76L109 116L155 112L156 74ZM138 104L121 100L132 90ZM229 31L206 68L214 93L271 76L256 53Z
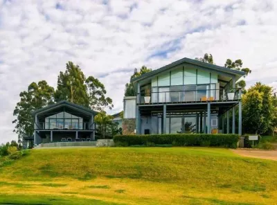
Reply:
M30 150L0 168L0 204L274 204L277 161L220 148Z

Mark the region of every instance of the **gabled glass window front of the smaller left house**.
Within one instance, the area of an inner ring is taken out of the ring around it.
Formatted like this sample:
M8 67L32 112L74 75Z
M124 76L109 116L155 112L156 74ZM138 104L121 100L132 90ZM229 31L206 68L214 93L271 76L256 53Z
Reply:
M83 130L83 118L67 112L60 112L45 118L44 129L46 130Z

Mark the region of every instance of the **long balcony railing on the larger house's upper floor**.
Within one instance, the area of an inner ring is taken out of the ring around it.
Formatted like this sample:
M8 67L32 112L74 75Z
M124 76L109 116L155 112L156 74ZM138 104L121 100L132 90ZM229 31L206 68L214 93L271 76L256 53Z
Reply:
M137 95L138 104L238 101L240 99L240 88L158 91L151 93L138 93Z

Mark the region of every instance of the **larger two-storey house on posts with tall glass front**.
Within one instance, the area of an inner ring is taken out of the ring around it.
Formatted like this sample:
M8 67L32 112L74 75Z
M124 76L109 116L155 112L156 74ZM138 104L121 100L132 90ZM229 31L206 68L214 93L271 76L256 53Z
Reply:
M183 58L134 78L134 96L124 98L123 134L242 134L241 89L235 83L243 75Z

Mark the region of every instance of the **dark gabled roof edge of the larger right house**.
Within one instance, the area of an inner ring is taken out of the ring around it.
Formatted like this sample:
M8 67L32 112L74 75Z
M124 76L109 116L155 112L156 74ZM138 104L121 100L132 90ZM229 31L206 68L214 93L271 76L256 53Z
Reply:
M166 71L167 69L171 69L172 67L177 66L179 64L182 64L184 62L186 62L188 64L194 64L194 65L197 65L197 66L202 66L204 68L211 69L211 70L214 70L214 71L222 71L224 73L231 73L231 74L241 75L241 76L245 75L245 73L243 71L233 70L233 69L225 68L225 67L222 67L222 66L217 66L215 64L209 64L209 63L206 63L206 62L201 62L199 60L193 60L193 59L184 57L180 60L172 62L171 64L163 66L163 67L161 67L157 70L151 71L149 73L144 73L143 75L141 75L139 77L133 78L131 80L131 82L136 82L136 81L141 80L143 78L148 78L150 76L156 75L157 73L161 73L162 71Z

